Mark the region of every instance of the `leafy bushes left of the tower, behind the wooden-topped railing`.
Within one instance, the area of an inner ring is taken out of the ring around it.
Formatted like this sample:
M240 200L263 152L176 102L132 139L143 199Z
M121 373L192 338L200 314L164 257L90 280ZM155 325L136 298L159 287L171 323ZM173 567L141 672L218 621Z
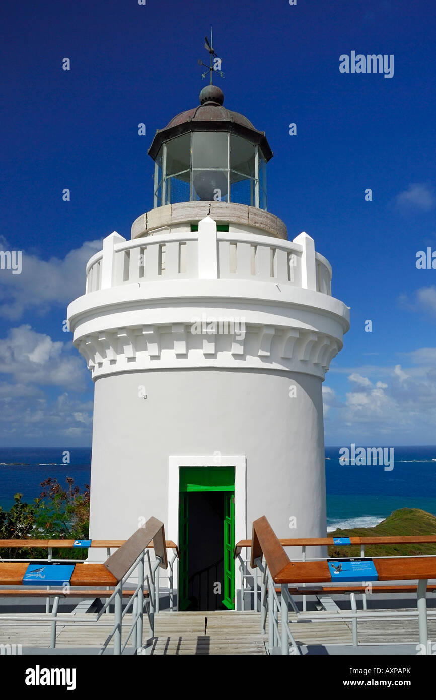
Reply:
M45 479L34 503L15 493L9 510L0 507L0 540L86 540L90 520L90 487L83 491L66 477L66 487L57 479ZM85 559L87 549L55 549L55 559ZM47 559L47 549L1 547L3 559Z

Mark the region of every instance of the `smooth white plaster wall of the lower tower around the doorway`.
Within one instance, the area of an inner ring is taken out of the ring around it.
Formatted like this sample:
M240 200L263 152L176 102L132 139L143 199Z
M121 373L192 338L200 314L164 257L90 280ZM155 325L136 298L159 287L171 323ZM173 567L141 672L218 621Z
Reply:
M90 537L128 538L150 515L167 529L169 456L216 452L246 456L248 537L263 514L279 537L325 536L321 379L204 368L95 381Z

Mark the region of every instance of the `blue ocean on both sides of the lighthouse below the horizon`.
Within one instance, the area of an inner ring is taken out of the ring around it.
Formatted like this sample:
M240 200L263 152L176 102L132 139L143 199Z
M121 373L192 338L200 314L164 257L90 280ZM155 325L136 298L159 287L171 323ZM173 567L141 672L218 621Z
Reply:
M348 446L350 447L350 446ZM64 451L70 462L63 463ZM80 488L90 483L91 449L78 447L0 448L0 506L41 493L41 482L56 477L65 484L73 477ZM422 508L436 515L436 446L394 447L394 468L342 466L339 447L325 448L328 531L337 527L373 527L393 510Z

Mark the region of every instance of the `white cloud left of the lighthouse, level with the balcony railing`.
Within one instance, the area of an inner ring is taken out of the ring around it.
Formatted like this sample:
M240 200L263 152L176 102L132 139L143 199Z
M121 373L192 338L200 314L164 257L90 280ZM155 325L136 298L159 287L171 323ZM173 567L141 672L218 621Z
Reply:
M3 250L12 250L5 239L0 244ZM40 315L52 306L66 309L69 302L85 293L86 263L99 250L101 241L85 241L63 260L41 260L24 251L21 274L0 270L0 316L16 320L29 309Z

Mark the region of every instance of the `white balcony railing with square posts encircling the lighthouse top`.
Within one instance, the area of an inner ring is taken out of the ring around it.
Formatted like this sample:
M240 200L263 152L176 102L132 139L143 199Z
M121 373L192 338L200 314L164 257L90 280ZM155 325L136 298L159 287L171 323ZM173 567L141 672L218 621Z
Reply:
M174 279L238 279L307 288L331 295L328 260L302 233L294 241L252 233L217 232L206 218L199 231L126 241L114 232L87 264L86 293Z

